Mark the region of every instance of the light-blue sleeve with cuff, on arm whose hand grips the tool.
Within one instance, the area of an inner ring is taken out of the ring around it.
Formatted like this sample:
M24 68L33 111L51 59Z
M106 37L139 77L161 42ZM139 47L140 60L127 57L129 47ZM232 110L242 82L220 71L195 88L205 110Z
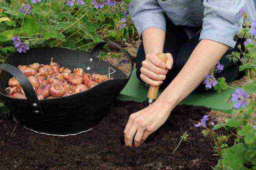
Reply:
M156 0L132 0L128 11L140 40L142 32L147 28L157 27L166 32L164 11Z

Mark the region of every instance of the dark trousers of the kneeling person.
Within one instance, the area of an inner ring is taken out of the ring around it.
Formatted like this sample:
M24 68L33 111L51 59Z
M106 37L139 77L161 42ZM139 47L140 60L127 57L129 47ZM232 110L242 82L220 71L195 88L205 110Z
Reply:
M165 42L164 42L164 53L171 53L173 57L173 65L172 69L168 70L166 74L166 78L163 83L160 85L160 88L166 88L172 80L177 76L180 70L188 61L193 50L196 48L197 44L199 43L200 32L197 33L193 38L189 40L187 33L179 26L175 26L172 24L171 21L166 22L166 35L165 35ZM202 27L198 27L200 30ZM241 62L238 61L233 63L233 61L229 61L225 58L227 55L231 54L233 51L240 50L237 48L238 44L241 44L241 50L244 51L244 41L245 39L238 38L236 42L236 46L233 49L227 50L227 52L222 56L220 59L220 64L224 65L223 71L221 73L217 73L214 75L216 79L220 77L226 78L226 82L229 83L233 80L240 79L244 76L245 72L239 72L239 66ZM242 54L241 54L242 56ZM240 56L240 57L241 57ZM141 62L145 60L145 51L143 47L143 42L140 44L140 47L137 51L136 61L136 68L137 68L137 78L143 82L145 85L146 83L141 80L140 78L140 67L142 67ZM205 84L203 82L195 89L195 91L206 91ZM213 88L208 90L213 91Z

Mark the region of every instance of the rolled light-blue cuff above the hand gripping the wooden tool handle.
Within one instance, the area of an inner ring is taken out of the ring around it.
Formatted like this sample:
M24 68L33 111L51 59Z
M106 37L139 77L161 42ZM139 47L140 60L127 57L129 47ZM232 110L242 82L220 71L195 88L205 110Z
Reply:
M133 21L134 26L137 29L140 40L142 41L142 32L147 28L160 28L166 33L166 20L161 13L147 13L137 17Z

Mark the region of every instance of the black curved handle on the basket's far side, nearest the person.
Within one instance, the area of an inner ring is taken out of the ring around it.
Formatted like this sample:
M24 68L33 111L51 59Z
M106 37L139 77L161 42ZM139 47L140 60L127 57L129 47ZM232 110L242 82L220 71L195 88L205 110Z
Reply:
M99 55L99 52L100 52L100 50L102 50L103 49L103 46L104 45L106 45L106 44L112 44L113 46L115 46L116 48L118 48L119 50L122 50L129 58L130 58L130 61L131 61L131 73L130 73L130 75L129 75L129 79L131 78L131 76L132 76L132 70L133 70L133 59L132 59L132 55L128 52L128 51L126 51L126 50L124 50L124 48L122 48L120 45L118 45L117 43L114 43L114 42L108 42L108 41L102 41L102 42L100 42L100 43L97 43L96 45L95 45L95 47L92 49L92 51L91 51L91 53L90 53L90 55L92 55L93 57L97 57L98 55Z

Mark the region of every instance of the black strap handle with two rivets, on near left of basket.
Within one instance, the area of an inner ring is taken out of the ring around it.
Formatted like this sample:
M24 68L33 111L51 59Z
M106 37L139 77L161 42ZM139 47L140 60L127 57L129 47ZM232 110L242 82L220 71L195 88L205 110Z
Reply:
M31 85L28 78L20 71L18 68L10 65L10 64L0 64L0 70L4 70L12 76L16 78L16 80L20 83L27 100L29 102L30 107L32 108L32 111L35 114L43 115L43 111L41 109L40 102L37 98L36 92L33 89L33 86Z

